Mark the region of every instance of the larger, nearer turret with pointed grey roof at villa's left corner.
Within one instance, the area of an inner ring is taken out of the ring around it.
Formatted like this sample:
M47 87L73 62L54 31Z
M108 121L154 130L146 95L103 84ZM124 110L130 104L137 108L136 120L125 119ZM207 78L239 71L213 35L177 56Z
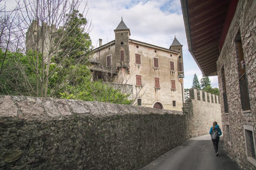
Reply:
M114 30L115 32L115 54L113 61L116 67L129 67L129 38L130 29L124 24L123 17L121 22Z

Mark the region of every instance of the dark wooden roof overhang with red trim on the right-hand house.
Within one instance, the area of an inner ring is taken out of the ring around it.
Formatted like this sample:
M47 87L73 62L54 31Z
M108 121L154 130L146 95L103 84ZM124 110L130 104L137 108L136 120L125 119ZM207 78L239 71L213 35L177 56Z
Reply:
M205 76L216 76L216 62L238 0L181 0L188 50Z

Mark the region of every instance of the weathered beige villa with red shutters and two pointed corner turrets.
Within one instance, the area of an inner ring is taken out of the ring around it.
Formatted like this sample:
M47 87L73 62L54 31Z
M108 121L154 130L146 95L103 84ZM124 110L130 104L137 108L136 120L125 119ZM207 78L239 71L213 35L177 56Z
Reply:
M108 69L110 81L132 85L135 104L171 110L182 110L182 45L174 38L170 48L130 39L130 29L123 19L114 30L115 40L95 48L93 66ZM95 61L98 63L95 64ZM94 68L95 68L94 67ZM94 78L103 79L104 71ZM104 81L104 79L103 79Z

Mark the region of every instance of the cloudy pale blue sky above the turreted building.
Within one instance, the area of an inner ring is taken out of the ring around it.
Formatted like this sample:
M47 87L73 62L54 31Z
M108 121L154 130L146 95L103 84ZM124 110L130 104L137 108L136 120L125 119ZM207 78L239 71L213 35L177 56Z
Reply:
M15 0L5 0L7 8L15 5ZM84 9L86 1L80 5ZM180 0L88 0L86 18L92 23L90 36L94 47L115 39L114 29L121 21L130 28L131 39L169 48L174 35L183 45L184 86L190 88L193 75L202 74L188 51ZM217 76L210 77L213 87L218 87Z

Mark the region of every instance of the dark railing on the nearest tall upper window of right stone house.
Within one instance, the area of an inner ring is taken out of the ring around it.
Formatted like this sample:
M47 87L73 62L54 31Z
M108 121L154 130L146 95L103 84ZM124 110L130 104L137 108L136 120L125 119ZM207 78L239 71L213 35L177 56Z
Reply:
M250 107L250 100L249 100L249 93L248 93L247 78L245 73L239 78L239 87L240 87L242 109L250 110L251 107Z

